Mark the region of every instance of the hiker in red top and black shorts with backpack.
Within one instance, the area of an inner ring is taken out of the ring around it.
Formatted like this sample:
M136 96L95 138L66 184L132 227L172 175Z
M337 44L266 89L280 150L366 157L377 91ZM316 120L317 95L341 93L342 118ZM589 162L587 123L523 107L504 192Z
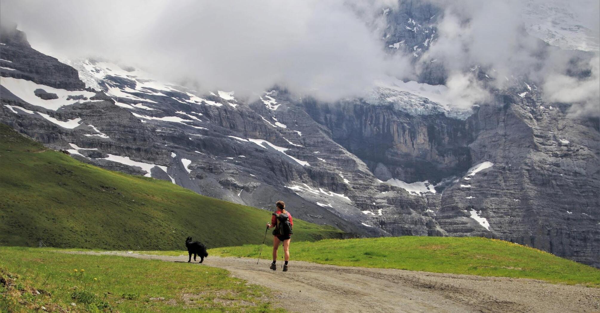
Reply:
M286 211L286 204L283 201L277 201L275 203L277 212L271 215L271 223L267 223L267 228L273 228L273 263L269 266L269 269L277 270L275 263L277 262L277 248L279 244L283 242L283 253L285 256L285 263L283 264L283 271L287 272L287 262L290 260L290 241L292 240L292 215Z

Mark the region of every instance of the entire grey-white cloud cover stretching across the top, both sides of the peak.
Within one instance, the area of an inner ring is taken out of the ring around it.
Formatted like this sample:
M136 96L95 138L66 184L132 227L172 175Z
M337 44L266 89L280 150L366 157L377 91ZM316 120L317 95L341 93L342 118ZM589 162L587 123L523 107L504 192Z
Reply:
M598 100L598 61L589 65L595 70L586 82L563 76L566 62L559 57L539 64L536 41L523 36L532 17L521 14L536 3L568 4L560 18L580 20L598 41L597 0L424 1L445 13L440 37L423 59L445 61L451 93L466 105L487 97L465 71L473 64L493 67L498 77L527 74L548 86L555 101ZM386 53L374 27L378 21L372 17L383 8L394 10L395 1L2 0L0 5L2 21L17 22L41 52L58 58L103 56L166 80L193 80L203 91L250 95L278 84L335 100L362 94L376 79L411 79L418 71L409 62L412 56ZM506 85L496 82L498 88ZM559 88L580 85L586 87L569 97Z

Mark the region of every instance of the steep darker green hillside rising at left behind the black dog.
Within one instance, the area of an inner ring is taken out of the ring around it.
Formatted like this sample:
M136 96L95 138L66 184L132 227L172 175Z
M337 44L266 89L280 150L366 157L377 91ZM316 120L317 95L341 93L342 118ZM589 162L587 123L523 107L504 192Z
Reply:
M164 180L132 176L49 151L0 124L0 245L184 249L262 242L270 213L204 197ZM295 223L295 237L340 231Z

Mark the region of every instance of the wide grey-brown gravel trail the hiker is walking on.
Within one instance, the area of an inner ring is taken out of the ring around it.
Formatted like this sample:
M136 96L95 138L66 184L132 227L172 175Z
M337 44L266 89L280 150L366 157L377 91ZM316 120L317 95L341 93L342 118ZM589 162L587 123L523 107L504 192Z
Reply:
M187 261L187 255L103 254ZM279 290L280 305L292 312L600 312L600 288L302 261L290 262L289 272L282 272L281 264L273 271L269 263L209 257L198 266L221 267L253 284Z

